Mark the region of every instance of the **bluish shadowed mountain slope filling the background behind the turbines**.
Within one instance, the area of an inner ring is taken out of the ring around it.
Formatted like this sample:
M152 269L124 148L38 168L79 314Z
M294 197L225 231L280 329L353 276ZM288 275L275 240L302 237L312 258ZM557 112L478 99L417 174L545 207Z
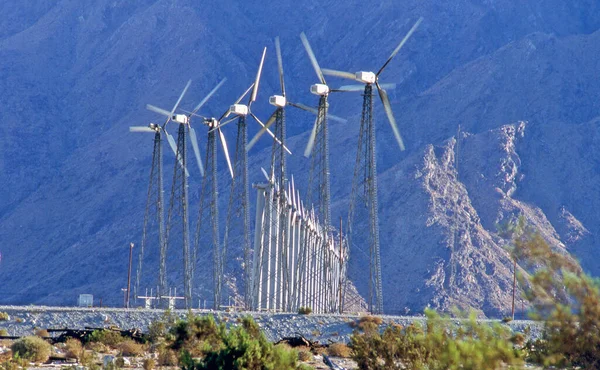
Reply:
M159 119L146 103L170 107L192 79L182 103L190 108L227 77L206 112L220 114L251 83L266 45L254 111L267 117L279 35L290 99L316 104L301 31L322 67L377 69L420 16L381 76L398 84L390 95L406 152L375 107L386 312L459 305L506 314L512 261L497 226L520 215L599 275L599 8L592 0L2 3L0 302L70 304L79 293L120 302L151 160L151 139L128 126ZM331 122L334 219L347 213L359 99L330 100L348 118ZM300 153L313 118L288 112L290 172L303 190L309 161ZM233 128L225 134L232 145ZM251 152L251 181L261 180L268 145ZM199 177L190 179L197 189ZM224 215L228 191L221 195ZM354 238L350 277L366 295L363 237Z

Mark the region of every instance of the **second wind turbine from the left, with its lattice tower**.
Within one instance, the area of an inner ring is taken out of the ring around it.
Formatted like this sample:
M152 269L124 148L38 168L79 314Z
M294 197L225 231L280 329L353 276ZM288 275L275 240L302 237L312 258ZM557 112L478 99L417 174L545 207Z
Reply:
M194 154L196 156L196 162L198 163L198 167L200 170L200 174L204 175L204 168L202 167L202 161L200 159L199 150L198 150L198 142L196 139L196 132L194 128L190 125L189 117L185 114L175 114L175 111L179 107L179 103L183 99L183 96L189 89L191 84L191 80L188 81L185 86L183 92L179 96L177 103L173 106L173 109L169 112L167 110L155 107L153 105L148 104L146 108L149 110L162 114L167 117L164 125L162 126L163 131L167 136L167 140L171 149L175 153L175 157L177 161L175 162L175 167L173 170L173 185L171 188L171 198L169 201L169 212L167 216L167 226L166 226L166 240L169 240L171 235L172 227L176 224L174 220L176 217L179 217L181 222L181 237L182 237L182 249L183 249L183 285L184 285L184 296L186 300L186 307L191 307L191 293L192 293L192 269L190 266L190 238L189 238L189 218L188 218L188 185L187 178L189 177L189 173L186 167L187 155L186 155L186 136L187 132L189 132L191 138L192 148L194 150ZM203 104L203 103L202 103ZM199 104L199 107L201 105ZM198 109L199 109L198 107ZM177 143L173 137L167 132L167 124L169 122L175 122L179 124L179 128L177 131ZM187 131L187 132L186 132ZM162 297L166 294L167 290L167 278L166 278L166 248L161 251L161 266L159 270L159 297Z

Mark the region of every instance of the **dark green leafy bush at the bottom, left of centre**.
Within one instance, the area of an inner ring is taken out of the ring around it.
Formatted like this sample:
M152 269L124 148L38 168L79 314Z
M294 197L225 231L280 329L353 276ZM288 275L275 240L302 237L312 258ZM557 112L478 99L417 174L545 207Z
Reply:
M224 323L217 325L212 316L188 317L173 329L171 348L181 349L184 369L296 369L296 351L274 346L250 317L230 329ZM200 356L192 358L189 349L196 349Z

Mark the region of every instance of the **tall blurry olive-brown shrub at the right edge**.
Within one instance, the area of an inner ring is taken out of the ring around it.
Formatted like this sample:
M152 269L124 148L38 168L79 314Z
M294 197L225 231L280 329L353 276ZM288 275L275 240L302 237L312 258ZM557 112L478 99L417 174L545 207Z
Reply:
M518 233L513 243L513 256L531 272L519 282L534 318L544 320L543 339L526 345L528 358L544 366L600 368L600 282L537 232Z

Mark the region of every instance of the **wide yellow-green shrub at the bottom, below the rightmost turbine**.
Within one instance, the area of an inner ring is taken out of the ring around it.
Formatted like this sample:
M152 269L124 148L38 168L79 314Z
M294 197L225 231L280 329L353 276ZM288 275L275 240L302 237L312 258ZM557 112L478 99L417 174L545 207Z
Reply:
M425 327L387 326L374 321L351 337L352 358L361 369L501 369L520 365L521 354L510 342L510 330L500 324L478 323L474 314L455 320L425 312Z

